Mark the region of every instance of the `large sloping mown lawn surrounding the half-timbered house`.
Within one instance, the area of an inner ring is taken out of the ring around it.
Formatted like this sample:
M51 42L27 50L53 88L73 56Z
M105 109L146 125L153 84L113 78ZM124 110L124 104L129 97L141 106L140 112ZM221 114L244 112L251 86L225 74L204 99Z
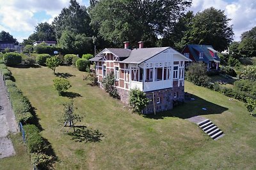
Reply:
M77 142L63 134L58 119L68 97L52 87L51 69L10 67L17 86L28 96L58 157L56 169L256 169L256 118L243 103L186 81L195 96L172 111L143 117L83 80L75 67L57 67L72 84L68 90L89 131ZM202 108L207 108L206 111ZM210 118L225 133L213 141L195 124L194 115ZM97 133L97 130L99 132ZM101 133L104 137L99 137ZM99 138L97 138L99 137Z

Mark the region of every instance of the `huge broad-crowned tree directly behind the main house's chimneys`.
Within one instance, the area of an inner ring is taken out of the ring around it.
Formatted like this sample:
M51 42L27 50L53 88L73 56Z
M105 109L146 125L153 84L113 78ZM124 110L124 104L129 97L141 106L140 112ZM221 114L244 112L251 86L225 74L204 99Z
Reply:
M91 24L102 38L116 46L141 40L155 46L157 37L173 31L191 0L101 0L91 4Z

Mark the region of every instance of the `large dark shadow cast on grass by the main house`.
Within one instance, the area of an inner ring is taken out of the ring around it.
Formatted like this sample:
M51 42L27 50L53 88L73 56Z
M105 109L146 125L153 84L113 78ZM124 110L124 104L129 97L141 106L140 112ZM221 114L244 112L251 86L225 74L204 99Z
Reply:
M221 114L228 108L224 108L217 104L205 101L198 96L193 96L195 100L186 100L184 104L176 106L173 110L163 111L161 113L156 113L156 115L143 115L145 118L153 119L163 119L164 117L179 117L179 118L191 118L200 115L212 115ZM206 110L203 110L205 108Z

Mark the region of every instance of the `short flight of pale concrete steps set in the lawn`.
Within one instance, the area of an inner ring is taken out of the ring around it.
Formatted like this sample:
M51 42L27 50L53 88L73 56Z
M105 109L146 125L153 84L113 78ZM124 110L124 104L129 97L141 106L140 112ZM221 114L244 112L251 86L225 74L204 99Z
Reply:
M198 123L198 126L208 134L212 139L217 140L224 136L225 134L214 125L209 119L204 120L203 122Z

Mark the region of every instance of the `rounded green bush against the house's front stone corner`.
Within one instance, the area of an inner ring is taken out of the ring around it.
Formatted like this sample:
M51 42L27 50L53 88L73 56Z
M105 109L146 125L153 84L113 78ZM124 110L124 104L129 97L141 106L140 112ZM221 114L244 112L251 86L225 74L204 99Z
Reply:
M132 111L141 113L150 100L140 89L132 89L129 96L129 104Z

